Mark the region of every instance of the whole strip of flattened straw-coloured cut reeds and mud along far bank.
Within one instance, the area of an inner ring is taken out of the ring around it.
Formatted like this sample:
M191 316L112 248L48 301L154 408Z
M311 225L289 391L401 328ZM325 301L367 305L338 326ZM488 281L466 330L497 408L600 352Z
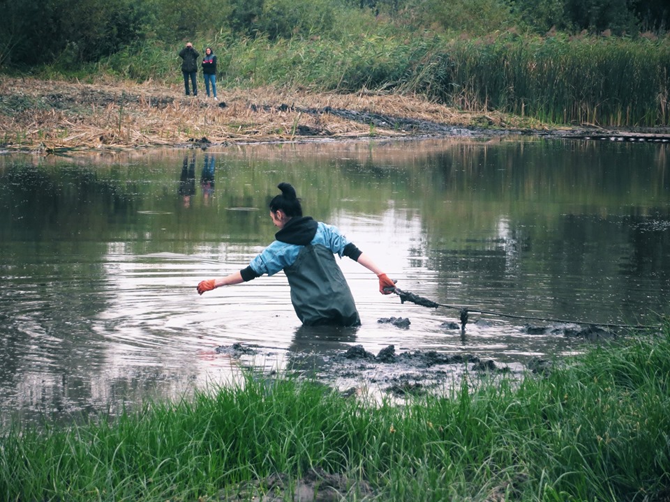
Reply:
M57 153L188 144L362 137L617 137L668 141L669 130L550 128L498 112L466 113L417 96L218 89L218 101L152 82L81 84L0 76L0 151Z

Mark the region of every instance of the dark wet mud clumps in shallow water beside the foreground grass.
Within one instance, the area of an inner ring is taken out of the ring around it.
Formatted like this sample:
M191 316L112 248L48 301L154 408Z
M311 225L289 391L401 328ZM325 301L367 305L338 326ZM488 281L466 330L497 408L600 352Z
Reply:
M407 329L411 320L403 317L378 319L388 324L389 330ZM485 324L480 319L477 324ZM445 330L459 330L461 325L447 321ZM550 334L556 337L571 337L585 344L606 342L619 335L620 330L604 326L576 324L526 324L519 328L528 335ZM233 344L218 347L216 353L235 360L253 361L271 358L273 349L258 345ZM412 396L443 393L458 389L464 377L474 386L482 379L509 377L521 379L524 374L547 374L555 363L546 358L530 358L526 363L499 363L477 353L444 353L438 351L396 351L394 345L381 349L377 354L366 351L362 345L352 344L348 349L326 353L308 351L295 353L291 357L290 371L299 377L315 378L332 386L343 395L364 395L374 388L373 394L405 399Z

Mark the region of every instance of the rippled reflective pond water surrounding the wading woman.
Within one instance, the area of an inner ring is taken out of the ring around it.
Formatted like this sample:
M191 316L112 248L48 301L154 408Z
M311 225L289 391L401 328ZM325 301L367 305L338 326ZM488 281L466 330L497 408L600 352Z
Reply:
M654 324L670 313L669 149L509 137L6 155L3 423L179 397L251 365L327 368L355 345L519 368L583 349L571 325L541 319ZM380 295L349 259L359 328L301 328L283 273L198 296L198 281L271 242L280 181L399 287L442 306ZM462 307L464 332L445 324ZM392 317L410 324L379 322Z

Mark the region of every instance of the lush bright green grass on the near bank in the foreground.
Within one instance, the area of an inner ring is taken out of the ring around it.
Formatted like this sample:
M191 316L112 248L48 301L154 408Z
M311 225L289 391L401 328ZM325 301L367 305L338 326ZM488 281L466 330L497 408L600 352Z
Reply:
M664 326L521 385L407 406L250 376L101 423L6 431L0 499L214 501L246 480L320 467L367 480L383 501L668 500L669 375Z

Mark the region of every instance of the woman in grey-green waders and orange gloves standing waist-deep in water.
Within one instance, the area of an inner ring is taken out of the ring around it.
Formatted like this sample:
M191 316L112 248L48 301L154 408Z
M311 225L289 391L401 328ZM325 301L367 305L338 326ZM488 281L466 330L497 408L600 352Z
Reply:
M303 217L295 188L278 185L281 195L270 201L270 218L279 231L251 264L226 277L204 280L198 293L250 281L283 270L291 288L291 303L306 326L361 324L354 298L334 254L349 257L379 277L379 291L390 294L394 282L343 236L337 227Z

